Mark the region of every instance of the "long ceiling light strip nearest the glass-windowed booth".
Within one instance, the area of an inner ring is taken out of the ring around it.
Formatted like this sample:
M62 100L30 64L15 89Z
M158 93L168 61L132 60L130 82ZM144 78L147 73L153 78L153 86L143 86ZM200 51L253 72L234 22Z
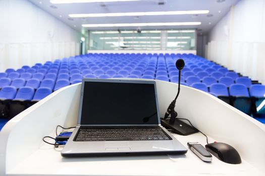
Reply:
M179 22L179 23L119 23L119 24L83 24L83 27L139 27L139 26L190 26L200 25L201 22Z

